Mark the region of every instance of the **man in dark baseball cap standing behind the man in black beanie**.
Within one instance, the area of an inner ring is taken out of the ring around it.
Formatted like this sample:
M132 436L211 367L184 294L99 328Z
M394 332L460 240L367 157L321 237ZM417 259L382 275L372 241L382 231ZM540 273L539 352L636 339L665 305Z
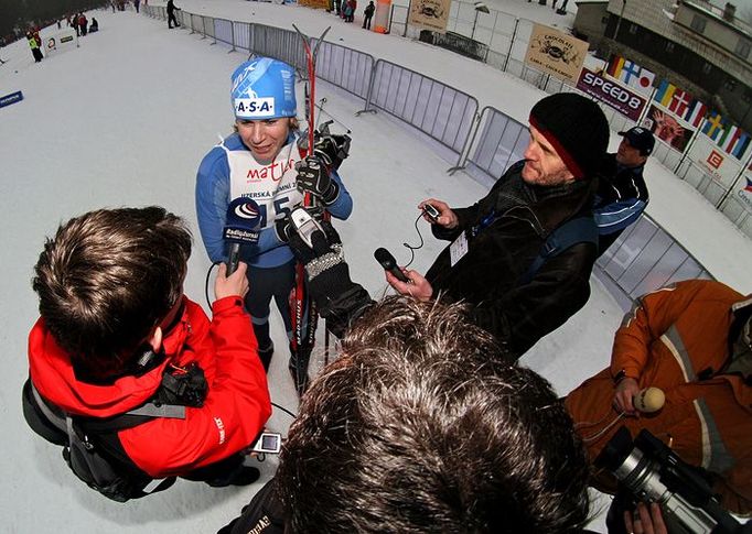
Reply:
M655 148L655 138L643 127L619 134L619 150L606 154L599 173L594 214L601 254L640 218L649 199L643 170Z

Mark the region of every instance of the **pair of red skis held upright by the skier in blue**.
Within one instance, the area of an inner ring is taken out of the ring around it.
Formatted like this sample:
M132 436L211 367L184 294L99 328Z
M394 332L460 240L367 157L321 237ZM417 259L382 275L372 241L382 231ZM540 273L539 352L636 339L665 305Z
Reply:
M305 68L308 80L305 81L305 118L308 120L308 154L313 154L315 144L315 79L316 79L316 55L321 43L324 42L327 28L319 37L315 45L311 46L311 37L304 35L298 26L292 24L298 35L303 42L305 52ZM313 206L314 198L310 193L303 196L303 206ZM324 211L324 218L329 219L329 211ZM305 270L302 263L296 266L296 287L292 294L291 320L292 320L292 359L291 370L293 373L296 390L298 395L302 395L308 388L308 367L311 360L311 352L315 345L315 333L319 323L319 312L315 303L310 298L305 287ZM329 331L325 333L325 350L329 350Z

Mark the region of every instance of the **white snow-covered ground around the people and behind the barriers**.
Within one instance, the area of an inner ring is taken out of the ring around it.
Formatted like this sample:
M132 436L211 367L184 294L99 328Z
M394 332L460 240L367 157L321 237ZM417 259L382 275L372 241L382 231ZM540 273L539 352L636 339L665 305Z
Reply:
M355 24L344 24L333 15L298 7L241 0L178 3L186 11L230 20L287 29L296 22L310 34L332 25L329 40L445 81L474 95L481 107L492 105L520 121L542 96L518 79L448 51L361 30L362 9ZM556 17L550 8L523 0L496 0L493 7L527 10L520 17L533 18L536 12ZM32 269L45 236L60 222L99 207L151 204L183 215L196 236L186 293L206 307L210 262L197 235L195 172L217 135L230 131L229 75L245 53L228 54L198 35L168 30L164 21L132 11L92 15L99 21L99 33L83 37L79 48L39 65L25 41L0 51L0 58L8 62L0 66L0 97L15 90L24 95L23 101L0 108L0 220L6 228L0 235L0 249L6 251L0 294L7 303L0 320L8 327L1 334L0 425L6 438L0 472L6 490L0 495L0 531L214 532L239 512L260 484L212 489L179 481L164 493L117 504L79 483L58 449L33 436L21 414L26 335L37 316ZM555 20L560 23L561 18ZM44 30L42 36L54 31ZM353 279L378 296L386 292L386 283L373 251L386 247L399 263L409 260L401 243L418 241L417 204L434 196L464 206L485 189L463 173L447 175L453 162L384 113L355 117L362 101L325 84L318 89L319 97L327 98L326 111L353 131L352 155L342 175L355 209L339 229ZM651 215L719 280L752 291L746 272L752 260L749 240L660 165L651 162L647 175ZM441 244L423 222L419 228L427 242L412 266L425 271ZM523 360L561 394L608 364L612 335L621 320L621 309L600 283L592 279L591 285L593 295L584 309ZM272 336L277 347L287 346L281 320L273 315ZM294 411L286 359L280 350L272 361L272 400ZM289 423L290 417L276 410L268 426L284 433ZM275 467L273 458L260 466L261 482ZM600 521L593 528L600 530L599 525Z

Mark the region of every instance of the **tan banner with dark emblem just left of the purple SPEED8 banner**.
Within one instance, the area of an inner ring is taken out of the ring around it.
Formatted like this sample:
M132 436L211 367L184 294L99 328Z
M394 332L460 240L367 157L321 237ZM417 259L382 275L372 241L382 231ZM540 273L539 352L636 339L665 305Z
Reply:
M588 43L552 28L533 24L525 63L559 79L577 84Z

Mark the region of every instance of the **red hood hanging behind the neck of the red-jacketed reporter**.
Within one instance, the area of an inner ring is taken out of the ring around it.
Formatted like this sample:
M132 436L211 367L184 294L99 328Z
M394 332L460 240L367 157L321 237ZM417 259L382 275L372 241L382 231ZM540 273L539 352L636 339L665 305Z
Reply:
M191 308L190 305L184 307L181 320L162 340L166 353L162 363L141 377L122 377L107 385L77 380L67 352L40 318L29 335L31 380L44 399L73 414L109 417L133 410L154 394L164 368L183 347Z

